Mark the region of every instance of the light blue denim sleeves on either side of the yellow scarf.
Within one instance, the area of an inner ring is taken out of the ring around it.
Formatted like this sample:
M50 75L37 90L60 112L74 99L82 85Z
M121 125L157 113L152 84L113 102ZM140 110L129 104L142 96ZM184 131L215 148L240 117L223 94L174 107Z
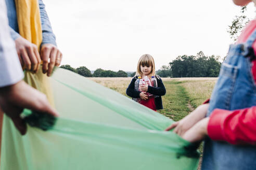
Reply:
M15 0L5 0L7 7L7 15L9 20L10 34L12 39L17 39L19 35L19 27L17 21L17 12L15 6ZM47 16L45 5L42 0L39 0L40 16L42 22L43 41L42 44L53 44L56 46L56 38L50 25L49 18Z

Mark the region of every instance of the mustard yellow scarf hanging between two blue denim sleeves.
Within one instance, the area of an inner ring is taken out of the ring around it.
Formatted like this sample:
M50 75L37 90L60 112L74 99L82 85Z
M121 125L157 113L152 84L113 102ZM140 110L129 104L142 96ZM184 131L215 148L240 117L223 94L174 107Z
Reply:
M42 43L42 25L39 3L37 0L15 0L19 34L35 44L40 51ZM24 72L24 80L33 88L46 94L50 104L54 106L53 93L50 88L49 78L43 74L42 67L33 74Z

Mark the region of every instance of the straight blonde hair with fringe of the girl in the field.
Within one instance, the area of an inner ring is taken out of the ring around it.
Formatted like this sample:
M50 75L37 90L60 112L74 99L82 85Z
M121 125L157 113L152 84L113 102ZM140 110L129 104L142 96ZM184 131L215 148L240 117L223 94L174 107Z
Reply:
M136 76L140 76L142 77L143 73L142 70L140 70L140 65L142 66L151 66L151 72L149 73L149 78L151 78L151 76L155 76L156 75L156 70L155 70L155 61L153 59L153 57L149 54L144 54L142 56L140 56L139 61L138 61L138 65L137 65L137 72L136 72Z

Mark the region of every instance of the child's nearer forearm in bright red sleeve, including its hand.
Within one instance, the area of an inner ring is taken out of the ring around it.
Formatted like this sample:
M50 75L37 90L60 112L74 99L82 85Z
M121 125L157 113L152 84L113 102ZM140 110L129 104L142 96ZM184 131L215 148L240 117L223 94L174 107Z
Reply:
M233 145L256 144L256 106L239 109L214 109L211 116L200 120L182 137L190 142L204 139L227 141Z

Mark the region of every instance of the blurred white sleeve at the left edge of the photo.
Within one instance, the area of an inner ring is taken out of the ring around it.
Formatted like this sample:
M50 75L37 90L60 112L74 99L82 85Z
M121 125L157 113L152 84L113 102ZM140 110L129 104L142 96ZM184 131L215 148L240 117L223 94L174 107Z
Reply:
M5 0L0 0L0 88L23 78L15 43L10 37Z

